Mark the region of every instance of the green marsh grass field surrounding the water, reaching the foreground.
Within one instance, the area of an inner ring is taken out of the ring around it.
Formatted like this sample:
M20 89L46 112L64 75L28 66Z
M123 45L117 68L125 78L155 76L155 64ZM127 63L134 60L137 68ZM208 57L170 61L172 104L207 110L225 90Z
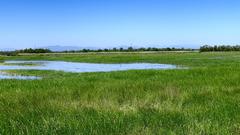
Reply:
M0 80L0 134L240 134L238 52L0 56L4 60L144 62L186 68L7 71L43 79Z

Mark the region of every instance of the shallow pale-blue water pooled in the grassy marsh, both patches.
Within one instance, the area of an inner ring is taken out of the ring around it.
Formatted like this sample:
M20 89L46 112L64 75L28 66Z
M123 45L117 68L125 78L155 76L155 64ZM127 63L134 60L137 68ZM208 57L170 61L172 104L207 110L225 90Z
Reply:
M151 64L151 63L130 63L130 64L97 64L97 63L79 63L65 61L5 61L0 65L0 70L54 70L64 72L111 72L124 70L146 70L146 69L175 69L177 66L169 64ZM27 77L16 77L10 75L1 75L0 79L28 79ZM33 78L33 77L30 77Z

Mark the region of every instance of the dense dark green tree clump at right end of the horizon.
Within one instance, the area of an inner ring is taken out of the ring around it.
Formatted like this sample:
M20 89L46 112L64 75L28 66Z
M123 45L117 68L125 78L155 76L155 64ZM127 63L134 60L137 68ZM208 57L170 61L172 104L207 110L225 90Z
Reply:
M220 52L220 51L240 51L240 45L230 46L230 45L204 45L200 47L200 52Z

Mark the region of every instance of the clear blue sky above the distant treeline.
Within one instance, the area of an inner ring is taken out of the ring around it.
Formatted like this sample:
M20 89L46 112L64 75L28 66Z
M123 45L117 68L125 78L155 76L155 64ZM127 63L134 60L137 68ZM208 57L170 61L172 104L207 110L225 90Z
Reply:
M239 0L1 0L0 48L240 44Z

